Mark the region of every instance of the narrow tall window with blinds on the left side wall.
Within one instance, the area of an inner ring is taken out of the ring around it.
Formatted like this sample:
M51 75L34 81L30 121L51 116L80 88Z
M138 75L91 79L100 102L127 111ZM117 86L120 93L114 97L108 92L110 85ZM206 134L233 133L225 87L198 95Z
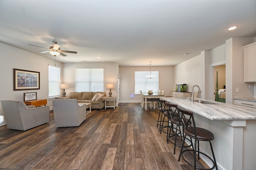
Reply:
M48 96L60 96L60 68L56 66L48 66Z

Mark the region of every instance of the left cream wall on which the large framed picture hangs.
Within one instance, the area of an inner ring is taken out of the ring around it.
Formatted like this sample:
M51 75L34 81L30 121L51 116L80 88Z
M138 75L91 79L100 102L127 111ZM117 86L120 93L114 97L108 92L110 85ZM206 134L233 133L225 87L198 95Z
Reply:
M38 99L48 99L48 64L54 65L54 60L0 43L0 100L23 100L25 92L37 92ZM62 63L56 61L62 67ZM40 72L40 90L13 90L13 68ZM47 106L52 106L48 101ZM0 105L0 125L4 124L2 105Z

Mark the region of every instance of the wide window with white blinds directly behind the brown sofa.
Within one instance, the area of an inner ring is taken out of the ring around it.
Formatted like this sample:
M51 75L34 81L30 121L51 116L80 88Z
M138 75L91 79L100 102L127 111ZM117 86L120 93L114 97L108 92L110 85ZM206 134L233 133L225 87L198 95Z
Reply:
M76 68L76 92L103 92L104 68Z

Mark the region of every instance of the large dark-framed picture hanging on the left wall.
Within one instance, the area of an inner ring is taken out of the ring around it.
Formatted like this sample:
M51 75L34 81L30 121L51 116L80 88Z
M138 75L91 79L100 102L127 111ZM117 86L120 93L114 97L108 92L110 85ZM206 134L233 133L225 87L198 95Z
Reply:
M40 72L13 69L13 90L40 89Z

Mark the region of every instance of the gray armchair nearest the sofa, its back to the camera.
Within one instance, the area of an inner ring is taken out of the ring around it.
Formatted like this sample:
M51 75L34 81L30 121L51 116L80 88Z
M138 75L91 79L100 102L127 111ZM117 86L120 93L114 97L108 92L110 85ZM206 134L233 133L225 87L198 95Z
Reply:
M79 126L86 119L86 105L79 106L76 99L52 100L56 127Z

